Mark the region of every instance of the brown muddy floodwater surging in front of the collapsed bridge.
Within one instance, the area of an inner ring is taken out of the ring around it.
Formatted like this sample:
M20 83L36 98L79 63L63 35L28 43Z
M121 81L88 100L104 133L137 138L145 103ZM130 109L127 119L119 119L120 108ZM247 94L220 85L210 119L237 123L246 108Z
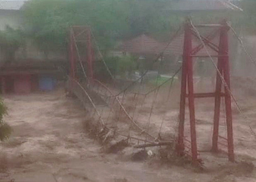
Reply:
M256 142L246 124L236 115L235 152L245 162L231 164L227 162L226 156L221 155L219 166L198 171L189 165L177 166L163 163L158 159L134 162L123 157L122 152L104 153L101 145L89 138L89 134L83 128L86 111L78 100L67 98L63 90L29 95L6 95L4 102L9 113L5 116L5 121L12 126L14 132L8 141L0 143L0 181L256 181ZM256 116L256 112L251 109L253 103L251 100L251 103L242 104L248 105L245 112ZM207 116L207 112L202 110L199 116ZM201 133L204 126L209 127L209 123L202 120L198 124ZM256 124L252 127L255 126ZM207 133L204 135L208 136ZM201 138L209 139L202 135ZM207 158L204 160L207 162Z

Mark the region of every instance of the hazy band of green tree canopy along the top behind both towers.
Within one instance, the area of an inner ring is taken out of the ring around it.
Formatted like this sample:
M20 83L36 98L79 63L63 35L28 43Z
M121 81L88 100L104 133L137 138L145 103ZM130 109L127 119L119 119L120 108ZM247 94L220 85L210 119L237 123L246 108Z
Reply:
M174 1L174 0L173 0ZM184 20L181 13L166 9L172 0L30 0L23 7L25 31L46 54L65 50L71 25L90 25L102 50L113 48L119 39L147 33L166 40ZM191 13L199 21L228 17L234 25L256 27L256 3L241 2L244 12Z

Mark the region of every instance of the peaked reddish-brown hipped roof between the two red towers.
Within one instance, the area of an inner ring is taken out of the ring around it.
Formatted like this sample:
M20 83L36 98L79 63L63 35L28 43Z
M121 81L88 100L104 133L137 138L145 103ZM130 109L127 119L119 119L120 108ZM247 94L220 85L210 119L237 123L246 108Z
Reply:
M124 41L120 50L131 53L158 54L163 50L164 45L157 40L144 34L131 40Z

